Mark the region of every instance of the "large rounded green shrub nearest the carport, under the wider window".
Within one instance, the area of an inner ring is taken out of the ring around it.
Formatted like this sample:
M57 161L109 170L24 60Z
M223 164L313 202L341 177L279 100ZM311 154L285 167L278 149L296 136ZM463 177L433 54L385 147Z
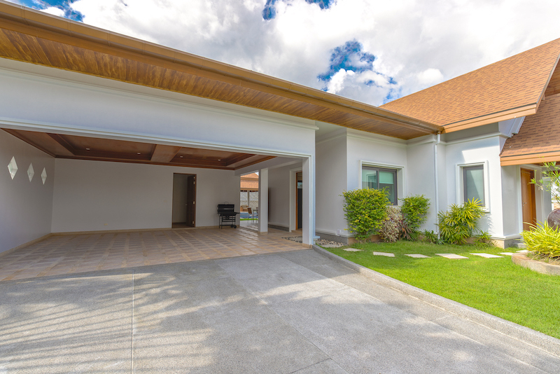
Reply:
M344 191L344 217L348 221L349 231L356 239L363 241L381 228L386 217L389 203L384 190L363 188Z

